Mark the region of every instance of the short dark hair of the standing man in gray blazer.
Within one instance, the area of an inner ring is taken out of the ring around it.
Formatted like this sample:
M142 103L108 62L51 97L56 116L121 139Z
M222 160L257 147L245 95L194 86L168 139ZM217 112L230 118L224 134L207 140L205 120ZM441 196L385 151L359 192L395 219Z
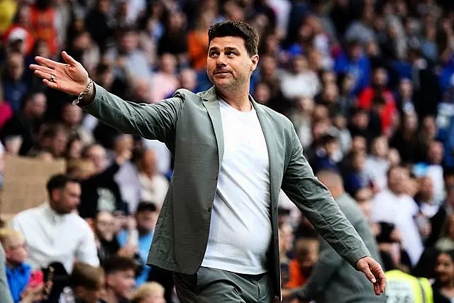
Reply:
M244 40L244 45L248 55L258 54L258 33L248 23L241 21L224 21L214 23L208 31L208 44L211 40L219 37L240 37Z

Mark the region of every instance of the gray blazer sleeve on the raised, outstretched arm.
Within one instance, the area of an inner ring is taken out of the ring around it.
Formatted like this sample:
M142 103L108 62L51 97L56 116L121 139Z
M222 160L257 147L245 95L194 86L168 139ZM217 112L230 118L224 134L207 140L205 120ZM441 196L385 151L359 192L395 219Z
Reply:
M94 101L82 109L109 126L122 133L164 143L169 143L175 134L183 106L183 99L178 94L155 104L137 104L116 97L98 84L94 84L94 89Z

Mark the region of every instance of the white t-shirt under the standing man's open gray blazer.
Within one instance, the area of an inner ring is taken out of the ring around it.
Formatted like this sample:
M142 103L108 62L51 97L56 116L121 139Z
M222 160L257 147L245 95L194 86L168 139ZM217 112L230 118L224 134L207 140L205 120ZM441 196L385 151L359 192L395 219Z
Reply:
M255 109L219 101L224 153L202 266L257 275L266 272L272 235L270 170Z

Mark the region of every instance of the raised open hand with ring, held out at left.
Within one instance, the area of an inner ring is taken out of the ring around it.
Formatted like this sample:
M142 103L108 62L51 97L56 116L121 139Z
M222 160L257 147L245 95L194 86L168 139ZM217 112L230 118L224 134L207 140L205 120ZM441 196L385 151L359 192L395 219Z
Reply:
M89 84L89 75L82 64L74 60L66 52L62 57L67 64L55 62L45 57L35 57L40 65L30 65L35 75L43 78L43 83L67 94L79 95L84 92Z

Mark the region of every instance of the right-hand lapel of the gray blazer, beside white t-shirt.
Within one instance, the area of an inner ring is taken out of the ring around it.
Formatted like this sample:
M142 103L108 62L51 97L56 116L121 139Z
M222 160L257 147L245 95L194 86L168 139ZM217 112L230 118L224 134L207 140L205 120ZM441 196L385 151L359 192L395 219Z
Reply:
M257 112L258 120L260 121L260 126L262 126L263 136L265 136L265 141L267 144L268 150L268 160L270 162L270 194L271 194L271 204L272 206L277 206L277 200L279 197L279 191L276 192L276 189L279 189L278 178L279 175L279 164L276 160L277 157L277 146L276 139L273 132L273 125L270 121L270 117L267 115L265 110L262 109L262 106L254 101L253 97L250 97L250 100Z

